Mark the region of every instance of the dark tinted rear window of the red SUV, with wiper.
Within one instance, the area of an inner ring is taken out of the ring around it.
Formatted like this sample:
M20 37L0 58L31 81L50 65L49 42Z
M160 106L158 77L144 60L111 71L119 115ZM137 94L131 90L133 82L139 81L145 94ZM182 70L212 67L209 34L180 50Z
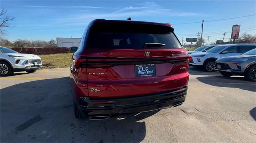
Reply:
M139 29L131 31L127 28L116 28L113 31L104 29L90 30L88 43L89 49L171 49L182 48L174 33L159 29Z

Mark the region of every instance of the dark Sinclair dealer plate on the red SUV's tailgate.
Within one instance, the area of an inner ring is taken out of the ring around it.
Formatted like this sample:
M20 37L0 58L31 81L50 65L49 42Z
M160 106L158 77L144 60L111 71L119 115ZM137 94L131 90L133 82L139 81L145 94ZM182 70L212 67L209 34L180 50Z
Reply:
M136 77L155 76L156 65L155 64L134 65L134 71L135 71Z

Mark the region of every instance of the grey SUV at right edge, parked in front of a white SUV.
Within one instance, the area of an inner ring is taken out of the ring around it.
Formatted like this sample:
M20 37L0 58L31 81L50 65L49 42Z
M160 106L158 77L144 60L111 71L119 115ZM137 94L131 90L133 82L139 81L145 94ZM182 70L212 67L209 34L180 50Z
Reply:
M216 61L214 69L223 76L237 74L256 82L256 49L242 55L220 58Z

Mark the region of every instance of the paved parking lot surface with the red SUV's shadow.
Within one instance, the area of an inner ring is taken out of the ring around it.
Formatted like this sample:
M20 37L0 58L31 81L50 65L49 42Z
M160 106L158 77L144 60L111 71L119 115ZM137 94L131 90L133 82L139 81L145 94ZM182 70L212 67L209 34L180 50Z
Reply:
M68 68L0 77L1 142L254 142L256 84L190 67L186 102L106 120L76 119Z

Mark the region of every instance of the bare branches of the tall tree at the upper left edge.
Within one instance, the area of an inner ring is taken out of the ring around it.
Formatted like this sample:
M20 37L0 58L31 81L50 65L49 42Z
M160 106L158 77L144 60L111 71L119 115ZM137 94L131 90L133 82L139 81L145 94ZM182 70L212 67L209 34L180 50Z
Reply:
M0 35L3 35L6 30L4 30L3 28L5 27L12 27L9 22L12 21L14 19L14 17L10 17L10 16L4 16L6 14L7 10L1 8L0 9Z

